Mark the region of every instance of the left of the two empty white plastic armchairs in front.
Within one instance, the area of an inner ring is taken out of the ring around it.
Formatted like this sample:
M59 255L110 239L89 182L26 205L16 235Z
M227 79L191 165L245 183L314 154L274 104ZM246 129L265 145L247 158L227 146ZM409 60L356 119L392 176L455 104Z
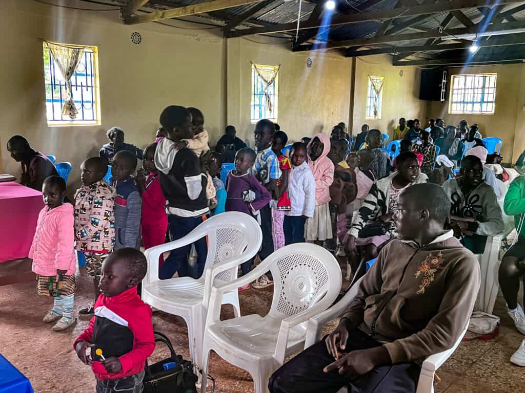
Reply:
M161 254L192 244L207 236L208 254L202 277L159 279ZM181 239L146 250L148 274L142 281L142 300L159 310L184 318L188 326L190 356L197 367L202 359L202 338L213 285L237 278L237 267L257 254L262 232L257 221L248 214L226 212L211 217ZM240 316L237 287L223 292L220 304L232 304Z

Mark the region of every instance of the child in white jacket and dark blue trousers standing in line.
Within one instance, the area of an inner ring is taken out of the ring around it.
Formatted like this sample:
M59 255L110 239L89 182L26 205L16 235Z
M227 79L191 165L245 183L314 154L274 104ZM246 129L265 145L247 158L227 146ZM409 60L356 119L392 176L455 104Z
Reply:
M296 142L290 149L292 170L288 179L290 211L285 212L285 244L304 242L304 223L316 207L316 180L308 166L306 145Z

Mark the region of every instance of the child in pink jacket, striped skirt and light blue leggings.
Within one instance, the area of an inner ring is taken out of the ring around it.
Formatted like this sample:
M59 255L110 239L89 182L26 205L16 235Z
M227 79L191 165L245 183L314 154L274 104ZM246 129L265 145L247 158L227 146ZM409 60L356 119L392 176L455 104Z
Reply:
M50 176L42 185L44 209L29 250L32 270L37 275L37 293L55 298L53 308L44 316L44 322L58 322L55 332L66 330L76 322L73 318L75 296L75 216L70 203L62 203L66 182L59 176Z

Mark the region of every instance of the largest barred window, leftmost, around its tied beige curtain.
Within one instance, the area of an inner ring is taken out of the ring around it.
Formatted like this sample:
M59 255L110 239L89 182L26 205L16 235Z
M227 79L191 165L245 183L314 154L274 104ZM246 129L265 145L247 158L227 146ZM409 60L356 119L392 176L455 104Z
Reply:
M77 69L71 77L73 100L78 114L75 119L62 115L67 98L66 83L58 64L44 42L44 78L46 84L46 114L48 126L100 125L100 89L98 48L86 47Z

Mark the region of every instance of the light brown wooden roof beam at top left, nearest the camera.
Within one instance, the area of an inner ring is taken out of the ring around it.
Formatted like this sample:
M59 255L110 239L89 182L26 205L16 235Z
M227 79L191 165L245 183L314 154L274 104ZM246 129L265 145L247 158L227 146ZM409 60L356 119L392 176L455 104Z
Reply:
M238 7L240 5L259 3L261 0L212 0L204 3L192 4L184 7L165 9L152 12L148 15L124 16L124 23L135 25L139 23L152 22L155 20L180 18L182 16L204 14L219 9Z

